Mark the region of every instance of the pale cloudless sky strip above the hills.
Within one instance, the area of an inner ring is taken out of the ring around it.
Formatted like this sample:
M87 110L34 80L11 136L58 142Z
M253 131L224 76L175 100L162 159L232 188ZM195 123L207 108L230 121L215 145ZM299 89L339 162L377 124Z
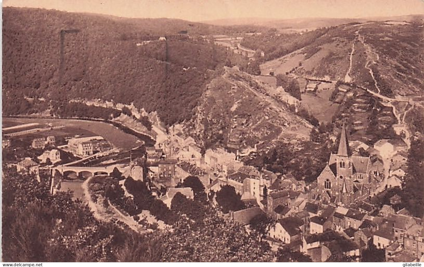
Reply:
M3 6L91 12L119 17L363 18L424 14L424 0L4 0Z

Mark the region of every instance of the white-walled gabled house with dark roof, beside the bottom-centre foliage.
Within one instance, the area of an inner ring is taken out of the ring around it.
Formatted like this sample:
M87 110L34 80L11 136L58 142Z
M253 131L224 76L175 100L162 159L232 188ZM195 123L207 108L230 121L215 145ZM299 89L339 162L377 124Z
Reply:
M304 222L297 217L287 217L271 226L268 234L273 239L279 239L285 244L290 244L293 241L300 240L302 226Z

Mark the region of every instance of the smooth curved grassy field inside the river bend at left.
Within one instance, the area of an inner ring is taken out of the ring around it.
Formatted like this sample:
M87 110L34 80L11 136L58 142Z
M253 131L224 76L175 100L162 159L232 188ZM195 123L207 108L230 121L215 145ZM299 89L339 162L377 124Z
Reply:
M112 125L109 125L105 122L95 122L95 121L84 121L84 120L66 120L66 119L29 119L29 118L3 118L4 122L19 122L23 123L32 123L38 122L40 125L47 125L51 123L53 127L55 126L64 126L64 128L50 130L45 132L40 132L37 134L42 134L43 136L47 135L58 135L58 136L94 136L99 135L103 136L106 140L112 143L115 147L128 150L140 145L140 141L137 137L126 134L123 131L115 128Z

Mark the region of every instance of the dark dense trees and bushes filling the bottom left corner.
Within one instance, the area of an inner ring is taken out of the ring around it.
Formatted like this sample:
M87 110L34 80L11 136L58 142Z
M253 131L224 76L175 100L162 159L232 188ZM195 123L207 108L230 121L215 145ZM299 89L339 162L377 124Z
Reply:
M70 193L3 166L4 261L159 261L156 239L96 220ZM137 251L137 254L133 254ZM160 251L160 250L159 250Z

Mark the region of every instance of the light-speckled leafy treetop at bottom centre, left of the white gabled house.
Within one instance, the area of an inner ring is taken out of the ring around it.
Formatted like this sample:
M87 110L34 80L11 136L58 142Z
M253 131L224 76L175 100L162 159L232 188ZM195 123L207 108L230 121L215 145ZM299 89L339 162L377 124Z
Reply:
M163 261L251 262L272 261L268 243L243 225L224 220L217 214L206 216L198 227L179 220L174 231L163 237Z

